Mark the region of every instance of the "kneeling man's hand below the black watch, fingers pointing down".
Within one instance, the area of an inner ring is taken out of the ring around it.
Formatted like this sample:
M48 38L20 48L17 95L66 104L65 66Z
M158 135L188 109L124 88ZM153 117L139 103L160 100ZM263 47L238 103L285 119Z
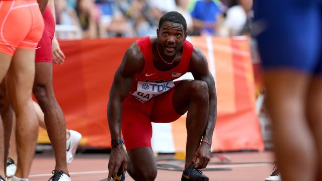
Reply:
M109 176L107 180L111 180L112 175L114 175L113 180L116 179L117 171L119 170L120 166L123 166L123 173L126 171L127 166L127 156L122 148L122 145L117 145L116 147L112 148L110 160L109 160Z

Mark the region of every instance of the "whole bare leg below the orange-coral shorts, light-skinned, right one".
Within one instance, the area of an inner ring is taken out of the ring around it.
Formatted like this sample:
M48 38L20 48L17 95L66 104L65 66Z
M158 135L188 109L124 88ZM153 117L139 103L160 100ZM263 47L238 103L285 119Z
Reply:
M36 149L38 121L32 105L35 51L18 48L6 76L7 94L17 118L18 169L16 176L27 178ZM23 156L22 156L23 155ZM24 166L23 166L24 165Z

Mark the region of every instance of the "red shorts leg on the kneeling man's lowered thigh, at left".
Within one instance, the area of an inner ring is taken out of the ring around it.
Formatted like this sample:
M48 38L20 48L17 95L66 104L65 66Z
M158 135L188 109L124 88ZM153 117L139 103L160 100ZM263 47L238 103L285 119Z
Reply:
M141 111L139 106L123 103L122 134L127 150L151 148L152 125L149 115Z

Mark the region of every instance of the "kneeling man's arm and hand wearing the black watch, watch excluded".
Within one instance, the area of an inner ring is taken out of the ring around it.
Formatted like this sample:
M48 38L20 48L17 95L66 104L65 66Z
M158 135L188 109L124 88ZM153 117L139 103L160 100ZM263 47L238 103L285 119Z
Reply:
M136 43L133 43L126 51L123 61L116 70L111 87L110 98L107 108L107 117L111 138L121 139L122 108L123 100L129 94L135 73L144 68L144 57ZM127 158L120 145L113 147L109 160L109 176L116 175L119 167L123 165L123 172L126 170Z

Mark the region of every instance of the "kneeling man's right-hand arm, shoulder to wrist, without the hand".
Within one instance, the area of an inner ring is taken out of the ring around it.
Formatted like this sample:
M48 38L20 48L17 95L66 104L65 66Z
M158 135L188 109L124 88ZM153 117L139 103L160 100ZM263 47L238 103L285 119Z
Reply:
M215 81L208 69L208 62L205 55L196 47L194 47L192 57L190 60L190 71L196 80L205 81L208 84L209 94L209 111L208 123L203 133L202 140L211 143L212 134L215 128L217 118L217 95ZM209 146L210 148L210 146Z

